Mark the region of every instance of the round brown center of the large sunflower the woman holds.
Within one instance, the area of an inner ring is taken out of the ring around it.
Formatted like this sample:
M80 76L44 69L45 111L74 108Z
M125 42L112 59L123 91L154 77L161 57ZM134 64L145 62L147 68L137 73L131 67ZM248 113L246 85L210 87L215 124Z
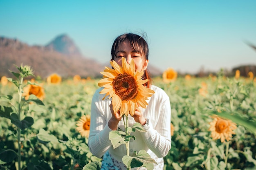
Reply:
M120 74L115 77L112 84L115 94L118 95L121 100L134 99L138 93L138 85L132 75Z

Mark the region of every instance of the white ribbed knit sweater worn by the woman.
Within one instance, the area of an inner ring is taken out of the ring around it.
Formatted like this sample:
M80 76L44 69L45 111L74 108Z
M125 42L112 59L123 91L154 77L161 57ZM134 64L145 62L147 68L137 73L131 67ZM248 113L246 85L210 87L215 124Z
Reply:
M109 107L111 99L102 100L105 96L105 94L99 94L102 89L99 88L92 98L88 145L94 156L100 158L108 150L115 159L121 162L122 157L126 155L126 146L122 144L113 149L109 140L111 129L108 127L108 121L112 116ZM143 126L147 132L135 131L131 133L136 139L130 141L130 156L134 156L135 150L139 152L139 150L144 149L151 157L156 155L158 158L162 158L171 149L170 99L161 88L151 85L151 89L155 93L147 100L147 108L140 109L144 117L149 119L149 125ZM128 118L129 127L131 127L135 121L130 115ZM118 128L124 131L123 119L119 121Z

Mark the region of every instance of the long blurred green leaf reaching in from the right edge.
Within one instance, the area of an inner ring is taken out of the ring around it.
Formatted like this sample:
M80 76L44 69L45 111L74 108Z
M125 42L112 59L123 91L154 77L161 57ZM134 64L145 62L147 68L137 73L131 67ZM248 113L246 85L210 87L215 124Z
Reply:
M221 112L218 113L216 111L210 111L210 115L218 115L220 117L229 119L233 121L236 124L239 124L241 126L244 126L251 132L253 132L256 135L256 121L252 119L247 119L245 117L242 117L239 113L228 113L228 112Z

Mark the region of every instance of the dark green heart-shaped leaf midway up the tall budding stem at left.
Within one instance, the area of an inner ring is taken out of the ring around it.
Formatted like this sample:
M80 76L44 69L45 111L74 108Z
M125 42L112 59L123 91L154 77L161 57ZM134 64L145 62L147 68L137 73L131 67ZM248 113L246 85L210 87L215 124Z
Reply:
M11 114L11 123L15 124L21 130L25 130L34 124L34 119L32 117L25 117L22 121L19 120L16 113Z

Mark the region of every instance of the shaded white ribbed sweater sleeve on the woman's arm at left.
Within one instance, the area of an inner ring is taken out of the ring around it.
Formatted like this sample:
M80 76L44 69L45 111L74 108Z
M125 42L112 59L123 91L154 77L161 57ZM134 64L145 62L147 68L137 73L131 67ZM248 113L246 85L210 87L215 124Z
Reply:
M91 122L88 146L90 152L96 157L102 157L112 145L109 140L109 132L112 131L107 125L108 102L102 101L99 88L92 97Z

